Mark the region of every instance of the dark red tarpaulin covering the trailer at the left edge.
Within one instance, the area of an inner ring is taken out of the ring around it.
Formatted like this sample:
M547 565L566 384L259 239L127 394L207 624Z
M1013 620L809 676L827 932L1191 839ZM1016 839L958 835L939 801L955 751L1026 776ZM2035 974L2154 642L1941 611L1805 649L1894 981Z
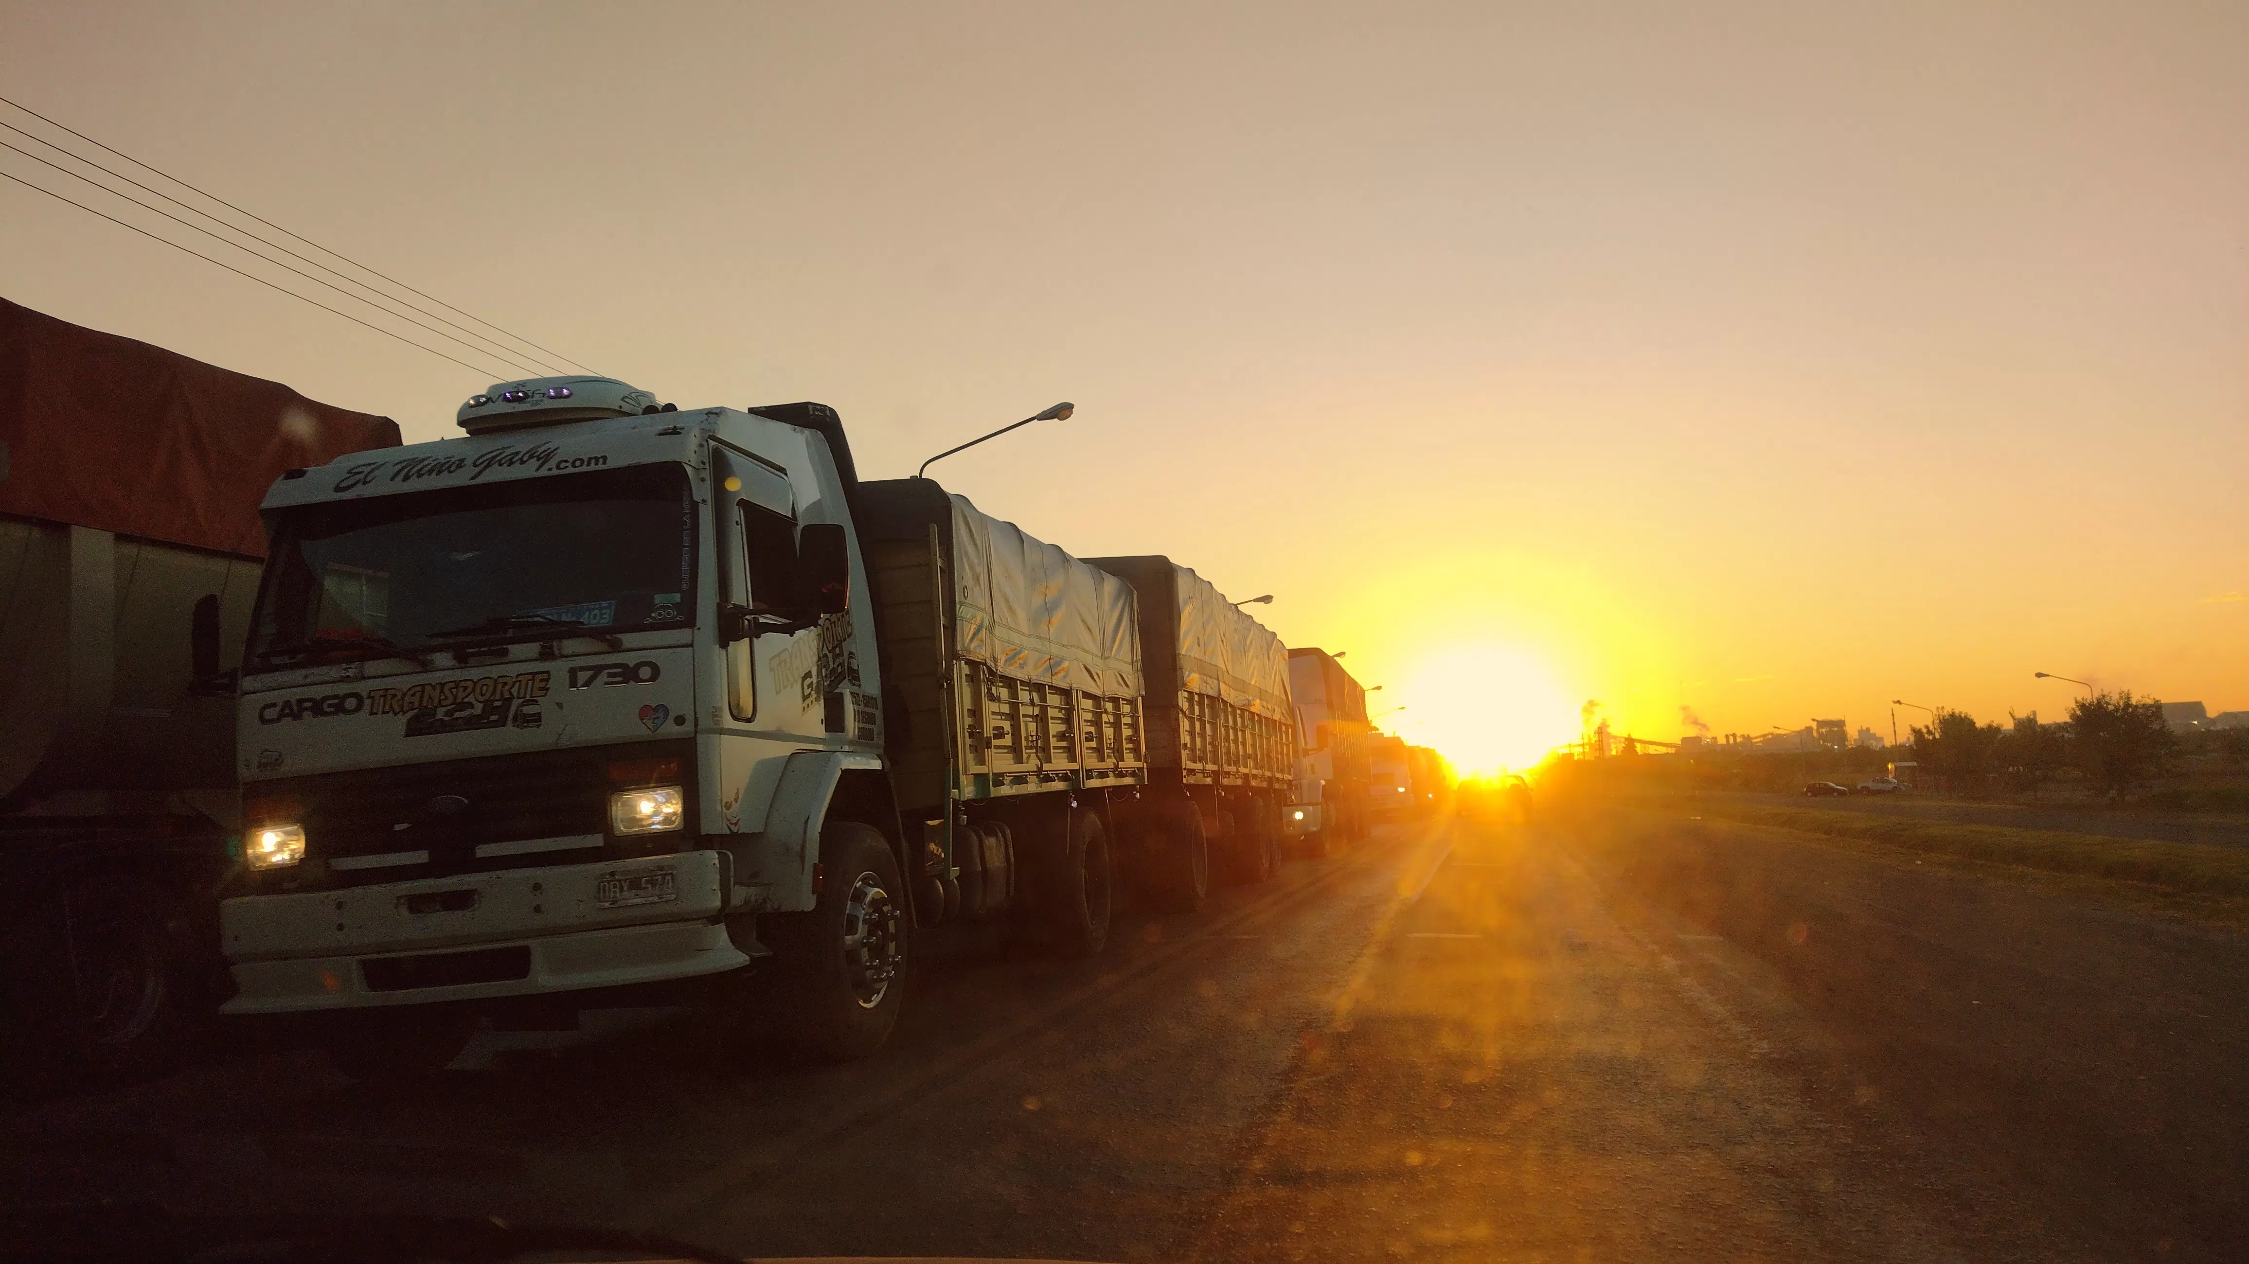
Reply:
M387 416L0 299L0 513L263 558L281 470L396 445Z

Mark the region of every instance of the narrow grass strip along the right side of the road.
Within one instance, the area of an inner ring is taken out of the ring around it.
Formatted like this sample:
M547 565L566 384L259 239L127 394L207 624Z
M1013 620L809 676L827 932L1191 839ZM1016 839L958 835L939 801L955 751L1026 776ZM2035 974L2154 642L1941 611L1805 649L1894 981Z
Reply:
M2013 825L1954 825L1945 821L1761 807L1750 803L1698 803L1696 810L1702 816L1741 821L1743 825L1772 825L1804 834L1860 839L1912 852L2040 868L2047 873L2141 882L2188 895L2249 900L2249 848L2107 839L2058 830L2017 830Z

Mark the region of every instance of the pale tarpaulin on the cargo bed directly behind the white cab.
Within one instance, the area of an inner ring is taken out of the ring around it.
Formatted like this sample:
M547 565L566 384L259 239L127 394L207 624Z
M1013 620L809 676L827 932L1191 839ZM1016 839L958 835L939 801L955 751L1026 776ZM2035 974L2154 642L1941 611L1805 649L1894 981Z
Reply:
M1017 679L1140 695L1131 585L963 495L954 497L954 589L965 657Z

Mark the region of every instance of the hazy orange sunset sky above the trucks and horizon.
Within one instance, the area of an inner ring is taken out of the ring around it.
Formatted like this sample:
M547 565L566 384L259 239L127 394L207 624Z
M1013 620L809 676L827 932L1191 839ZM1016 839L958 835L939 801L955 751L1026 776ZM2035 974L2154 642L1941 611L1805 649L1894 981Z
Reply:
M895 477L1075 400L933 472L1275 594L1466 765L1588 697L2249 708L2245 58L2249 2L0 0L0 94L681 407ZM409 441L490 382L11 182L0 297Z

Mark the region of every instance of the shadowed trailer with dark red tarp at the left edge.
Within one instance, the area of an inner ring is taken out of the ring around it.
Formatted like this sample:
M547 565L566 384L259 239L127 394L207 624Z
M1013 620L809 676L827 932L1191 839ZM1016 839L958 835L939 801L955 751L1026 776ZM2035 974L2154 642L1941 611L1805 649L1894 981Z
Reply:
M0 299L0 1039L130 1064L214 1003L259 499L396 443Z

